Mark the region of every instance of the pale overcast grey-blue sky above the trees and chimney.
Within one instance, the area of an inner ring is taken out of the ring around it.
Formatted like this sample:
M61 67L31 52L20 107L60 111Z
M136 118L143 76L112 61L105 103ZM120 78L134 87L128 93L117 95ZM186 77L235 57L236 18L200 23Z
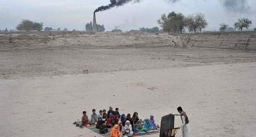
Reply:
M205 14L208 26L205 30L218 30L219 23L233 23L240 17L252 21L250 29L256 27L255 0L142 0L124 6L97 12L97 24L104 24L107 31L118 27L122 30L158 26L163 13L171 11L189 15ZM226 3L225 2L231 2ZM56 29L67 27L84 30L85 24L93 20L93 11L109 0L0 0L0 29L15 29L23 19L43 22L44 27ZM230 5L227 5L230 4Z

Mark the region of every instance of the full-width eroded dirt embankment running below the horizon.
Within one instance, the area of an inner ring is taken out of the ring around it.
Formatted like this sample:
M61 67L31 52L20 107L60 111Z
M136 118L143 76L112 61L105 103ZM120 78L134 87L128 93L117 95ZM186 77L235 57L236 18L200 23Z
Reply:
M41 48L143 48L143 47L206 47L256 50L254 34L198 34L198 35L58 35L39 36L0 35L0 50Z

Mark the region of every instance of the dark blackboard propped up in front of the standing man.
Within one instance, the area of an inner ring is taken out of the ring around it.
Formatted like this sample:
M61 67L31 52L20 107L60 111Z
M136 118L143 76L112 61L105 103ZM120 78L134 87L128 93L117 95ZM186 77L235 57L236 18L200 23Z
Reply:
M168 114L163 116L160 125L160 137L163 137L165 131L171 128L174 128L174 115Z

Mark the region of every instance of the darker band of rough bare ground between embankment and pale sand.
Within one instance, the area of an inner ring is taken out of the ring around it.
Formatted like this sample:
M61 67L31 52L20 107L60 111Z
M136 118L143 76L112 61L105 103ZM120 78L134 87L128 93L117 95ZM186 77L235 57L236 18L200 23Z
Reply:
M256 62L256 51L116 48L0 51L0 79Z

